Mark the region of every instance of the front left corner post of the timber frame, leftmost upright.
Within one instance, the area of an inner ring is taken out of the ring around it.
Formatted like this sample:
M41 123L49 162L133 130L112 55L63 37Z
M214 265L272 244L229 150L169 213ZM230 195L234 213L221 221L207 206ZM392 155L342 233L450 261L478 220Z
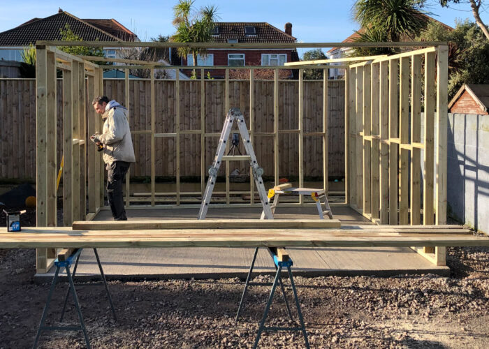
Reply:
M46 114L48 104L48 76L46 75L47 51L45 46L36 46L36 225L48 225L48 172L46 171ZM46 272L48 249L36 249L37 272Z

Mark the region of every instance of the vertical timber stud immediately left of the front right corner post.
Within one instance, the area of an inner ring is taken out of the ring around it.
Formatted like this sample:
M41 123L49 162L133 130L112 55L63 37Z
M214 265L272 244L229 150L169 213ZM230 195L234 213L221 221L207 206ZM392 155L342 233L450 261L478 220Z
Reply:
M435 168L435 52L425 54L425 131L423 224L432 225Z

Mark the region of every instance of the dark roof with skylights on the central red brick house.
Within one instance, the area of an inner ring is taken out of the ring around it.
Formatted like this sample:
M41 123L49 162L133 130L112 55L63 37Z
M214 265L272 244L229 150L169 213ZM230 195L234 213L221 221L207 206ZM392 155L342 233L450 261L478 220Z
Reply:
M227 43L238 39L238 43L295 43L296 38L266 22L216 22L217 35L214 43ZM245 27L254 27L256 34L245 34Z

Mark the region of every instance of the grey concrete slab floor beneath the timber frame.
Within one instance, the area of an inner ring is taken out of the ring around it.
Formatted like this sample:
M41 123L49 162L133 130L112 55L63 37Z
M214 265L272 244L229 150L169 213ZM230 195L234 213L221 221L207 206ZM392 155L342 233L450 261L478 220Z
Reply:
M195 218L198 209L129 209L129 219ZM251 208L209 209L208 218L259 218L261 210ZM342 225L370 224L348 207L333 207ZM276 218L317 218L315 207L279 207ZM112 220L110 211L101 211L96 221ZM448 267L437 267L411 248L288 248L297 276L439 274L448 276ZM253 248L103 248L98 249L108 279L245 279ZM255 274L274 274L275 267L265 248L256 258ZM36 281L54 274L37 274ZM98 274L94 253L82 252L76 274L92 279Z

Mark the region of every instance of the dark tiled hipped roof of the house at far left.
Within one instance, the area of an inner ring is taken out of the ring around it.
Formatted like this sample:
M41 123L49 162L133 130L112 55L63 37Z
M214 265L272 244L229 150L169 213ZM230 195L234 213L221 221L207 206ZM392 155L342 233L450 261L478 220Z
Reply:
M34 18L19 27L1 32L0 46L25 46L30 43L34 44L37 40L61 40L59 29L64 29L66 24L69 24L73 33L83 40L120 40L117 36L96 27L94 24L80 20L71 13L63 11L41 19Z

